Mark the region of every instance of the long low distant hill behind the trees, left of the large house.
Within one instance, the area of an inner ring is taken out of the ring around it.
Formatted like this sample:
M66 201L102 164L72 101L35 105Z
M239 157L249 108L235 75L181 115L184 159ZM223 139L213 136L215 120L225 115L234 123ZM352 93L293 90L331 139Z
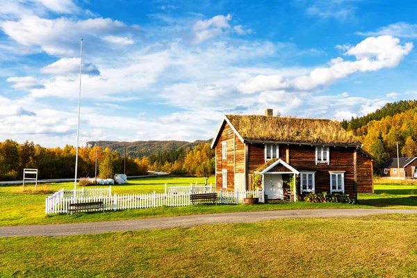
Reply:
M161 152L169 152L173 150L177 150L180 148L189 149L193 148L202 142L210 143L211 139L209 140L196 140L194 142L187 142L187 141L135 141L135 142L118 142L118 141L90 141L87 142L87 147L102 147L105 149L108 147L113 150L116 150L119 154L124 154L124 146L126 145L126 153L127 156L131 156L132 158L142 156L150 156L152 154L159 154Z

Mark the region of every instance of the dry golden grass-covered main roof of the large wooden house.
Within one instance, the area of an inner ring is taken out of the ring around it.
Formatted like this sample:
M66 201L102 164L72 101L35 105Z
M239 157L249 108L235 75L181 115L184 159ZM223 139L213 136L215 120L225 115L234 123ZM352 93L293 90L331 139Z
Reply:
M327 119L226 115L243 140L313 144L359 144L343 127Z

